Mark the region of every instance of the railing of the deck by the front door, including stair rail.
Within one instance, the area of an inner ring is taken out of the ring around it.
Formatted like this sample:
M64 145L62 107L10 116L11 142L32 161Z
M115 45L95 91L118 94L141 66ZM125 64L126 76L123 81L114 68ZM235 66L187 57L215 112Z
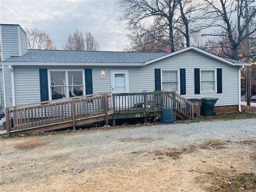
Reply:
M146 109L157 111L162 107L173 107L182 115L194 119L194 104L176 92L155 91L112 94L113 112L136 113Z

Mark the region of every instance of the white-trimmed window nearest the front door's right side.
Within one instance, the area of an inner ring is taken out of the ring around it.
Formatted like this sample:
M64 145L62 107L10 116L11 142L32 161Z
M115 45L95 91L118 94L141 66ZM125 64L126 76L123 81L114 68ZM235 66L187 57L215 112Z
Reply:
M162 90L178 92L178 71L162 71Z

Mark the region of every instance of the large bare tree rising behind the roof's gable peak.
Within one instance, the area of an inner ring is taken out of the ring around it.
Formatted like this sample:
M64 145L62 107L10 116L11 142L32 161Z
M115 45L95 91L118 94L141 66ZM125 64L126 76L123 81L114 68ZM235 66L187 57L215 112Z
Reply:
M192 30L189 30L189 24L195 21L192 14L199 9L199 4L192 3L192 0L117 0L117 4L123 14L120 20L127 21L126 29L131 34L136 28L141 30L144 23L154 20L154 27L151 27L154 30L150 30L149 35L151 38L152 34L159 35L153 38L161 46L164 44L174 52L190 45ZM156 30L161 32L156 33Z

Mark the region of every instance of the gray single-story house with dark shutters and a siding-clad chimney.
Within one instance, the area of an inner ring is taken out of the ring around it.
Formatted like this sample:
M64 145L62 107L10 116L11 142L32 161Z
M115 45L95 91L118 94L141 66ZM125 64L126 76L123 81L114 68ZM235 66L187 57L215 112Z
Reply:
M0 27L2 106L99 92L166 90L187 99L218 98L215 112L240 110L240 70L249 65L245 62L194 46L169 54L28 50L19 25Z

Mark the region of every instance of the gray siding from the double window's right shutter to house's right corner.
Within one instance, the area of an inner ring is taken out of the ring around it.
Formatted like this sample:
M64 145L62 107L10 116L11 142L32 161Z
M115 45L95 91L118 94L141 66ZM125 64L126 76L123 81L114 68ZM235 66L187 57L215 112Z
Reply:
M111 70L128 70L129 92L142 92L155 90L154 69L179 70L186 69L186 95L185 98L213 97L219 100L216 106L238 105L238 67L229 66L198 52L188 50L170 58L148 64L143 67L93 67L93 92L111 92ZM194 94L194 68L200 70L216 70L222 68L222 93ZM105 79L100 78L100 71L105 71Z

